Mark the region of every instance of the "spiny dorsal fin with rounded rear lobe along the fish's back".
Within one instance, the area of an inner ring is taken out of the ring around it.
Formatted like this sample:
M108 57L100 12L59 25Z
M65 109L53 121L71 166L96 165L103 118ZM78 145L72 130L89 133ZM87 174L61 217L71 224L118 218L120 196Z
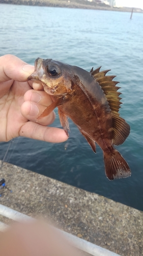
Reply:
M101 68L101 67L100 67ZM105 70L100 72L100 68L96 70L91 70L91 75L96 79L96 81L101 86L107 101L110 106L112 113L112 123L113 123L113 137L112 141L114 145L122 144L130 133L130 126L126 121L120 117L119 109L121 108L122 102L120 101L120 92L117 92L120 87L117 87L118 81L112 81L116 76L106 76L106 73L110 70Z

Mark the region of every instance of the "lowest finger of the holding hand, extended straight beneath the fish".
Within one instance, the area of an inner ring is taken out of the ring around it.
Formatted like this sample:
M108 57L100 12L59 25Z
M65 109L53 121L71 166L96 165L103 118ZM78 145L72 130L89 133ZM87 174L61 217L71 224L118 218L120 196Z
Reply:
M65 131L60 128L47 127L31 121L21 127L19 136L52 143L64 142L68 139Z

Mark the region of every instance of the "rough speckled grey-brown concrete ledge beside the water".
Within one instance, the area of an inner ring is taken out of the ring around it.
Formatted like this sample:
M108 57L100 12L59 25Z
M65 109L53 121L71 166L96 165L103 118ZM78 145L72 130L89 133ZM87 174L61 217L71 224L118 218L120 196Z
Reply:
M1 204L50 218L63 230L122 256L143 255L143 212L8 163L0 178L13 190L5 189ZM0 221L7 224L2 216Z

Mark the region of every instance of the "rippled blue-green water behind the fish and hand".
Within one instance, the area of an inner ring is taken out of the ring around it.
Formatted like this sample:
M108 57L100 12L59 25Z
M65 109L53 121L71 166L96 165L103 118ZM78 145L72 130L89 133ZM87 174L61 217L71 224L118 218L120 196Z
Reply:
M71 121L67 142L17 138L5 161L143 210L142 24L139 13L130 20L126 12L0 4L0 55L14 54L31 64L37 57L58 59L87 71L102 66L117 75L123 98L120 113L131 126L118 150L132 176L109 181L102 151L97 146L95 155ZM61 127L58 114L53 125ZM1 159L8 144L0 144Z

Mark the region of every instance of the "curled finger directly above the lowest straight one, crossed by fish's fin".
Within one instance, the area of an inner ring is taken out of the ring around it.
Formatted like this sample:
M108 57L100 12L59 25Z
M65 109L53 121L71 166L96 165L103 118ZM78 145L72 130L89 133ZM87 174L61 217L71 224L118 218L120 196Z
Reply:
M48 116L38 120L38 117L44 112L45 109L46 107L41 104L38 104L32 101L25 101L21 105L21 114L27 120L37 122L43 125L49 125L53 123L55 119L54 111L52 111Z

